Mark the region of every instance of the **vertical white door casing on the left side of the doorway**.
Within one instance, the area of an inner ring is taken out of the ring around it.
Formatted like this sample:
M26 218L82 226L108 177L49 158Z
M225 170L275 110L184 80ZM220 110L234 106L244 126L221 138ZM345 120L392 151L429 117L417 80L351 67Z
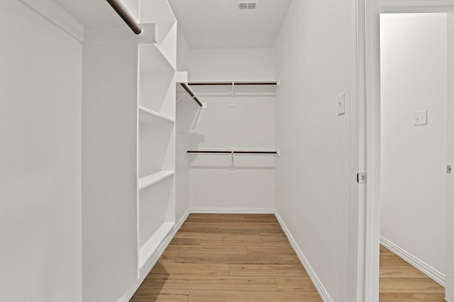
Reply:
M360 3L362 1L358 1ZM365 152L365 203L358 214L364 257L363 301L379 301L380 276L380 4L366 0L358 7L360 46L360 152ZM361 12L363 11L363 13ZM358 81L359 82L359 81ZM364 120L365 118L365 120ZM365 132L364 132L365 130ZM364 136L363 136L364 135ZM362 164L362 163L361 163ZM361 187L361 186L360 186ZM360 198L362 200L362 198ZM358 257L359 258L359 257Z

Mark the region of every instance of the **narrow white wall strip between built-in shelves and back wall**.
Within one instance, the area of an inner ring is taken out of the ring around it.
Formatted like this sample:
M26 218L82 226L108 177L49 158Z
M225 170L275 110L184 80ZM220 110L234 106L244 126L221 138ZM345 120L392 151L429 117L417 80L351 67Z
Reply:
M189 70L191 49L187 43L184 32L177 28L177 70L187 72ZM179 85L179 84L177 84ZM180 95L177 93L177 98ZM189 103L189 104L188 104ZM189 106L188 106L189 105ZM184 152L189 146L187 130L182 130L182 121L185 116L196 113L192 99L185 99L177 103L177 138L175 145L175 222L178 223L187 211L189 211L189 157Z

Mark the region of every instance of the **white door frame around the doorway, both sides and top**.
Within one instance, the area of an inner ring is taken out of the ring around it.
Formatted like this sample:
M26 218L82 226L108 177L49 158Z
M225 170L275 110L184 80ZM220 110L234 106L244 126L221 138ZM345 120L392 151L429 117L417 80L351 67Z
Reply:
M380 266L380 13L448 13L448 145L447 164L454 164L454 1L453 0L366 0L365 35L358 44L365 45L365 138L360 136L360 154L365 150L365 204L358 198L358 299L378 301ZM358 14L358 18L361 18ZM361 23L361 22L360 22ZM360 28L360 26L358 26ZM361 60L358 58L358 62ZM360 82L358 81L361 86ZM361 111L360 111L361 112ZM361 120L361 113L359 120ZM360 157L361 160L361 157ZM446 300L454 301L454 177L447 177L446 208ZM361 221L364 224L361 225ZM364 227L364 240L359 235ZM362 262L361 255L363 255ZM364 274L364 279L360 279Z

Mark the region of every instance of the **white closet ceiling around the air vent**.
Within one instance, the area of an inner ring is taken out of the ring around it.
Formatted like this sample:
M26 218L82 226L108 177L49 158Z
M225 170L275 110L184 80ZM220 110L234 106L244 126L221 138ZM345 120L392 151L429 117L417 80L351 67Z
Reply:
M273 47L292 0L258 2L240 11L238 0L169 0L191 48Z

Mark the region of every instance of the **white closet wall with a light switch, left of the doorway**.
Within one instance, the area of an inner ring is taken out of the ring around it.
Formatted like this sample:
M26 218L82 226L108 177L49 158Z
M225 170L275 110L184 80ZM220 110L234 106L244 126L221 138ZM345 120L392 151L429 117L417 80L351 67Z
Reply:
M350 1L293 1L276 47L276 209L326 293L350 302Z

